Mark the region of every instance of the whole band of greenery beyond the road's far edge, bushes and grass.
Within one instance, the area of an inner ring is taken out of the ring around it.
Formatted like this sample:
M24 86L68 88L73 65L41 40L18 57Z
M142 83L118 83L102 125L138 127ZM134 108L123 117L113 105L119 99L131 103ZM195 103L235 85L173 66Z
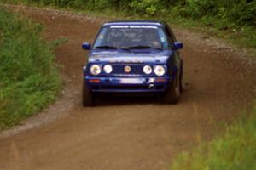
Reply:
M2 0L59 8L92 11L117 11L139 14L140 18L177 21L195 27L207 27L219 37L242 47L256 48L255 0ZM117 13L117 14L118 14ZM212 33L211 32L211 33Z

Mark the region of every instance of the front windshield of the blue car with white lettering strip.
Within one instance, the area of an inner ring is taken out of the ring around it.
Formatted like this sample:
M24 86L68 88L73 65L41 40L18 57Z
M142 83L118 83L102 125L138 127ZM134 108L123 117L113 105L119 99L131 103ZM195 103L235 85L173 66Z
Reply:
M157 26L110 26L100 31L93 49L169 49L166 35Z

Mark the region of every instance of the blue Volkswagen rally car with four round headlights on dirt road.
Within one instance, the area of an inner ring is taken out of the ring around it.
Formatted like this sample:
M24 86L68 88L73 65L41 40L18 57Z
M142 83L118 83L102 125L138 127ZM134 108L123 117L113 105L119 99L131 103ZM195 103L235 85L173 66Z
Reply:
M84 66L83 105L96 94L158 94L176 104L183 89L183 60L170 26L158 20L114 21L102 25Z

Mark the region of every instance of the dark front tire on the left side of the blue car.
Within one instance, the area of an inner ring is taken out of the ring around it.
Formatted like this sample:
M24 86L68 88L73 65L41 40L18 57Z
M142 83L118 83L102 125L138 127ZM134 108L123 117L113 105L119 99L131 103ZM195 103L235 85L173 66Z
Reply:
M82 103L84 107L93 106L95 104L93 94L91 94L90 89L88 88L84 79L83 79L83 89L82 89Z

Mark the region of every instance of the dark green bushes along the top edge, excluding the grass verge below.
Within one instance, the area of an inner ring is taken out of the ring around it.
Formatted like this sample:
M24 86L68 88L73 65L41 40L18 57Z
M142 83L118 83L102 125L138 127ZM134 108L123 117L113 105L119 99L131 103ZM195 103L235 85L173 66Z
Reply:
M17 0L3 0L16 3ZM214 18L233 26L256 26L256 1L253 0L22 0L61 8L117 9L133 14L174 14L193 20ZM177 10L178 9L178 10ZM212 22L212 20L210 20Z

